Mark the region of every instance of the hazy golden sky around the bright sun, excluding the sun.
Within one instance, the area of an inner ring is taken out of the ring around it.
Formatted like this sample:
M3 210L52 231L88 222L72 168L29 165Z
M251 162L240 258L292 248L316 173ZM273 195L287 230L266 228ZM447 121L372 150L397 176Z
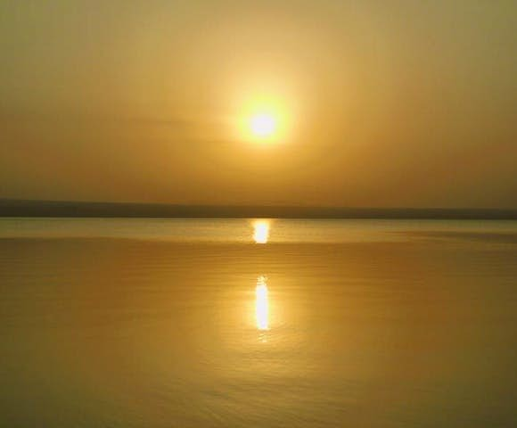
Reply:
M517 208L514 0L3 0L0 53L0 197Z

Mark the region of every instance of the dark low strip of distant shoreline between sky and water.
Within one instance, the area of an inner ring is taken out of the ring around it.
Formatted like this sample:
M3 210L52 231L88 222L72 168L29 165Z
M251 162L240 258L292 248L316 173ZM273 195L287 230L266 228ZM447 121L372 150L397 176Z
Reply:
M0 200L0 218L378 218L516 220L510 209L383 209L208 206L127 202Z

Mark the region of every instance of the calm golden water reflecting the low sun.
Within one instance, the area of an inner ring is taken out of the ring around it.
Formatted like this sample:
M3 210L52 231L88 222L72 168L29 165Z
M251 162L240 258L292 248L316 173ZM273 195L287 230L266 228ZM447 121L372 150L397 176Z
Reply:
M513 427L517 223L0 219L0 426Z

